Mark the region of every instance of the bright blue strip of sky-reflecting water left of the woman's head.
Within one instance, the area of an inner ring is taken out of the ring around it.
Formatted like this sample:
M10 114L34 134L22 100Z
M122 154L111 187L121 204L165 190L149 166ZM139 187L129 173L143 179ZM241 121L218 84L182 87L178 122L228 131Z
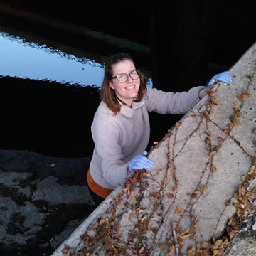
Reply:
M0 75L100 87L104 67L89 58L0 32Z

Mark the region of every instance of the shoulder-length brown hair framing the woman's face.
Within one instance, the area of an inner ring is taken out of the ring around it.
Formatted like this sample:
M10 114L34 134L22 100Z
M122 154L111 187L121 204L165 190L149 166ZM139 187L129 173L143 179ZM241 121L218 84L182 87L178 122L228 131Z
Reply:
M100 99L107 104L107 107L112 110L114 114L118 114L120 112L121 105L117 100L114 90L110 87L110 80L113 76L112 65L124 60L132 60L132 57L127 53L116 53L114 55L110 55L105 61L105 72L100 90ZM137 97L134 99L134 102L140 102L146 93L146 78L141 72L139 73L139 80L139 92Z

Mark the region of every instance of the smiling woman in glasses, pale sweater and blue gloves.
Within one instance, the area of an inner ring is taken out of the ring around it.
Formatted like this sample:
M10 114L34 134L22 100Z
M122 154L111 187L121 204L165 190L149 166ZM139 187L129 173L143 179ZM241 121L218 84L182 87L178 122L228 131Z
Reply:
M215 75L230 82L227 72ZM98 205L134 169L149 169L154 163L146 157L149 143L149 114L185 114L206 94L207 87L188 92L162 92L146 87L144 75L126 53L111 55L105 63L100 92L101 102L92 122L95 149L87 173L90 193Z

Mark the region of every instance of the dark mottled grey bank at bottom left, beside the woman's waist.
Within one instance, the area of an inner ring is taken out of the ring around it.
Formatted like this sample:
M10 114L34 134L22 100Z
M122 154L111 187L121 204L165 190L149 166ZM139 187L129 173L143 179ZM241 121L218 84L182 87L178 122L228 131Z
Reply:
M0 151L1 255L50 255L94 209L90 158Z

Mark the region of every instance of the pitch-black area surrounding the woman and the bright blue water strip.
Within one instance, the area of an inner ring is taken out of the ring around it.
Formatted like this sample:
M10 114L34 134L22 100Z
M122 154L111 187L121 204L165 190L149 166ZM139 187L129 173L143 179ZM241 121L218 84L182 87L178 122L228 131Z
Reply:
M252 1L0 1L0 26L25 31L102 63L124 50L153 78L154 87L180 92L228 70L255 42ZM127 38L148 52L86 36L86 28ZM16 35L19 36L19 35ZM35 39L36 40L36 39ZM38 60L40 61L40 60ZM1 65L0 63L0 71ZM0 73L1 75L1 73ZM99 104L92 87L0 77L0 149L49 156L91 156L90 124ZM159 141L181 116L150 114Z

